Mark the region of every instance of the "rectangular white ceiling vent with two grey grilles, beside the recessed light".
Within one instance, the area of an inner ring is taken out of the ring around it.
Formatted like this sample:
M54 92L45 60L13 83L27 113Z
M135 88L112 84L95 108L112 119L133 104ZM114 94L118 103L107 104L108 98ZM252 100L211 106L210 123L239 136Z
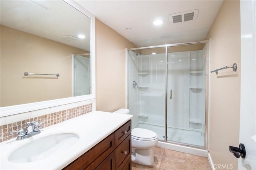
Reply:
M186 22L190 20L195 20L198 16L198 10L191 10L185 12L179 12L169 15L170 23Z

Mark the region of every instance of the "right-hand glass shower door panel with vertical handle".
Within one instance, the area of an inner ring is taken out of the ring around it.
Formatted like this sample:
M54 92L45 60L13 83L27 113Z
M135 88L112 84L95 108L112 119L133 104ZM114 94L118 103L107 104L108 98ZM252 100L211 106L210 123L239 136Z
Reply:
M205 54L168 47L167 140L204 146Z

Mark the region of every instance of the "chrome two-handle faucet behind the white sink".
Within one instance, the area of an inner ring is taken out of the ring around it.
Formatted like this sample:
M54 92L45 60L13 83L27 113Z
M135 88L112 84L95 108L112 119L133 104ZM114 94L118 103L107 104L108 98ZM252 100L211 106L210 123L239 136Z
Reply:
M12 134L14 132L18 132L16 140L23 140L25 138L41 133L42 123L39 124L37 121L27 122L28 127L26 128L26 132L24 132L23 129L20 129L20 130L13 130L10 133Z

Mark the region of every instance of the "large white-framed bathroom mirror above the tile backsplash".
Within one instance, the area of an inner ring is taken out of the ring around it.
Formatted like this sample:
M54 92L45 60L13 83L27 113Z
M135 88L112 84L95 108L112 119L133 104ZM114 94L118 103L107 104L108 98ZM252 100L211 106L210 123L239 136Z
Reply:
M0 117L95 99L92 14L63 0L0 8Z

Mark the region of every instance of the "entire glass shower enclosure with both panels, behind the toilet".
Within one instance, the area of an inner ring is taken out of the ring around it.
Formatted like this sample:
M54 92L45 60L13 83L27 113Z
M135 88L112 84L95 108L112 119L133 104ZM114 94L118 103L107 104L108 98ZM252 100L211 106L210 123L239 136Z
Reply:
M207 41L128 49L132 128L206 148Z

